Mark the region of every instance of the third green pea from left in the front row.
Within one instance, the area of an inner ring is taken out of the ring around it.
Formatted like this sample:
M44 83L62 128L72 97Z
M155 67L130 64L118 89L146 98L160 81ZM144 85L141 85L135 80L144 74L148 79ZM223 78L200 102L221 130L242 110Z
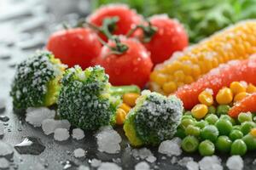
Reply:
M215 146L218 151L223 153L228 153L230 152L231 144L232 144L232 141L230 140L229 137L219 136L215 143Z

